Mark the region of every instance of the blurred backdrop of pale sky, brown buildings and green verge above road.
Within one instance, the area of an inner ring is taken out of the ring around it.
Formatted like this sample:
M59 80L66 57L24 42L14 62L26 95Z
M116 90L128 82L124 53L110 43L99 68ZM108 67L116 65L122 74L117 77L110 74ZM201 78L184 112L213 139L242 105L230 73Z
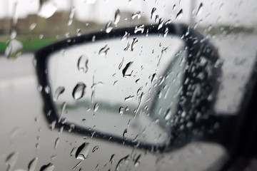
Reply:
M171 20L205 35L255 33L254 4L255 0L0 0L0 53L10 36L31 51L59 38L103 30L118 9L121 19L115 27Z

